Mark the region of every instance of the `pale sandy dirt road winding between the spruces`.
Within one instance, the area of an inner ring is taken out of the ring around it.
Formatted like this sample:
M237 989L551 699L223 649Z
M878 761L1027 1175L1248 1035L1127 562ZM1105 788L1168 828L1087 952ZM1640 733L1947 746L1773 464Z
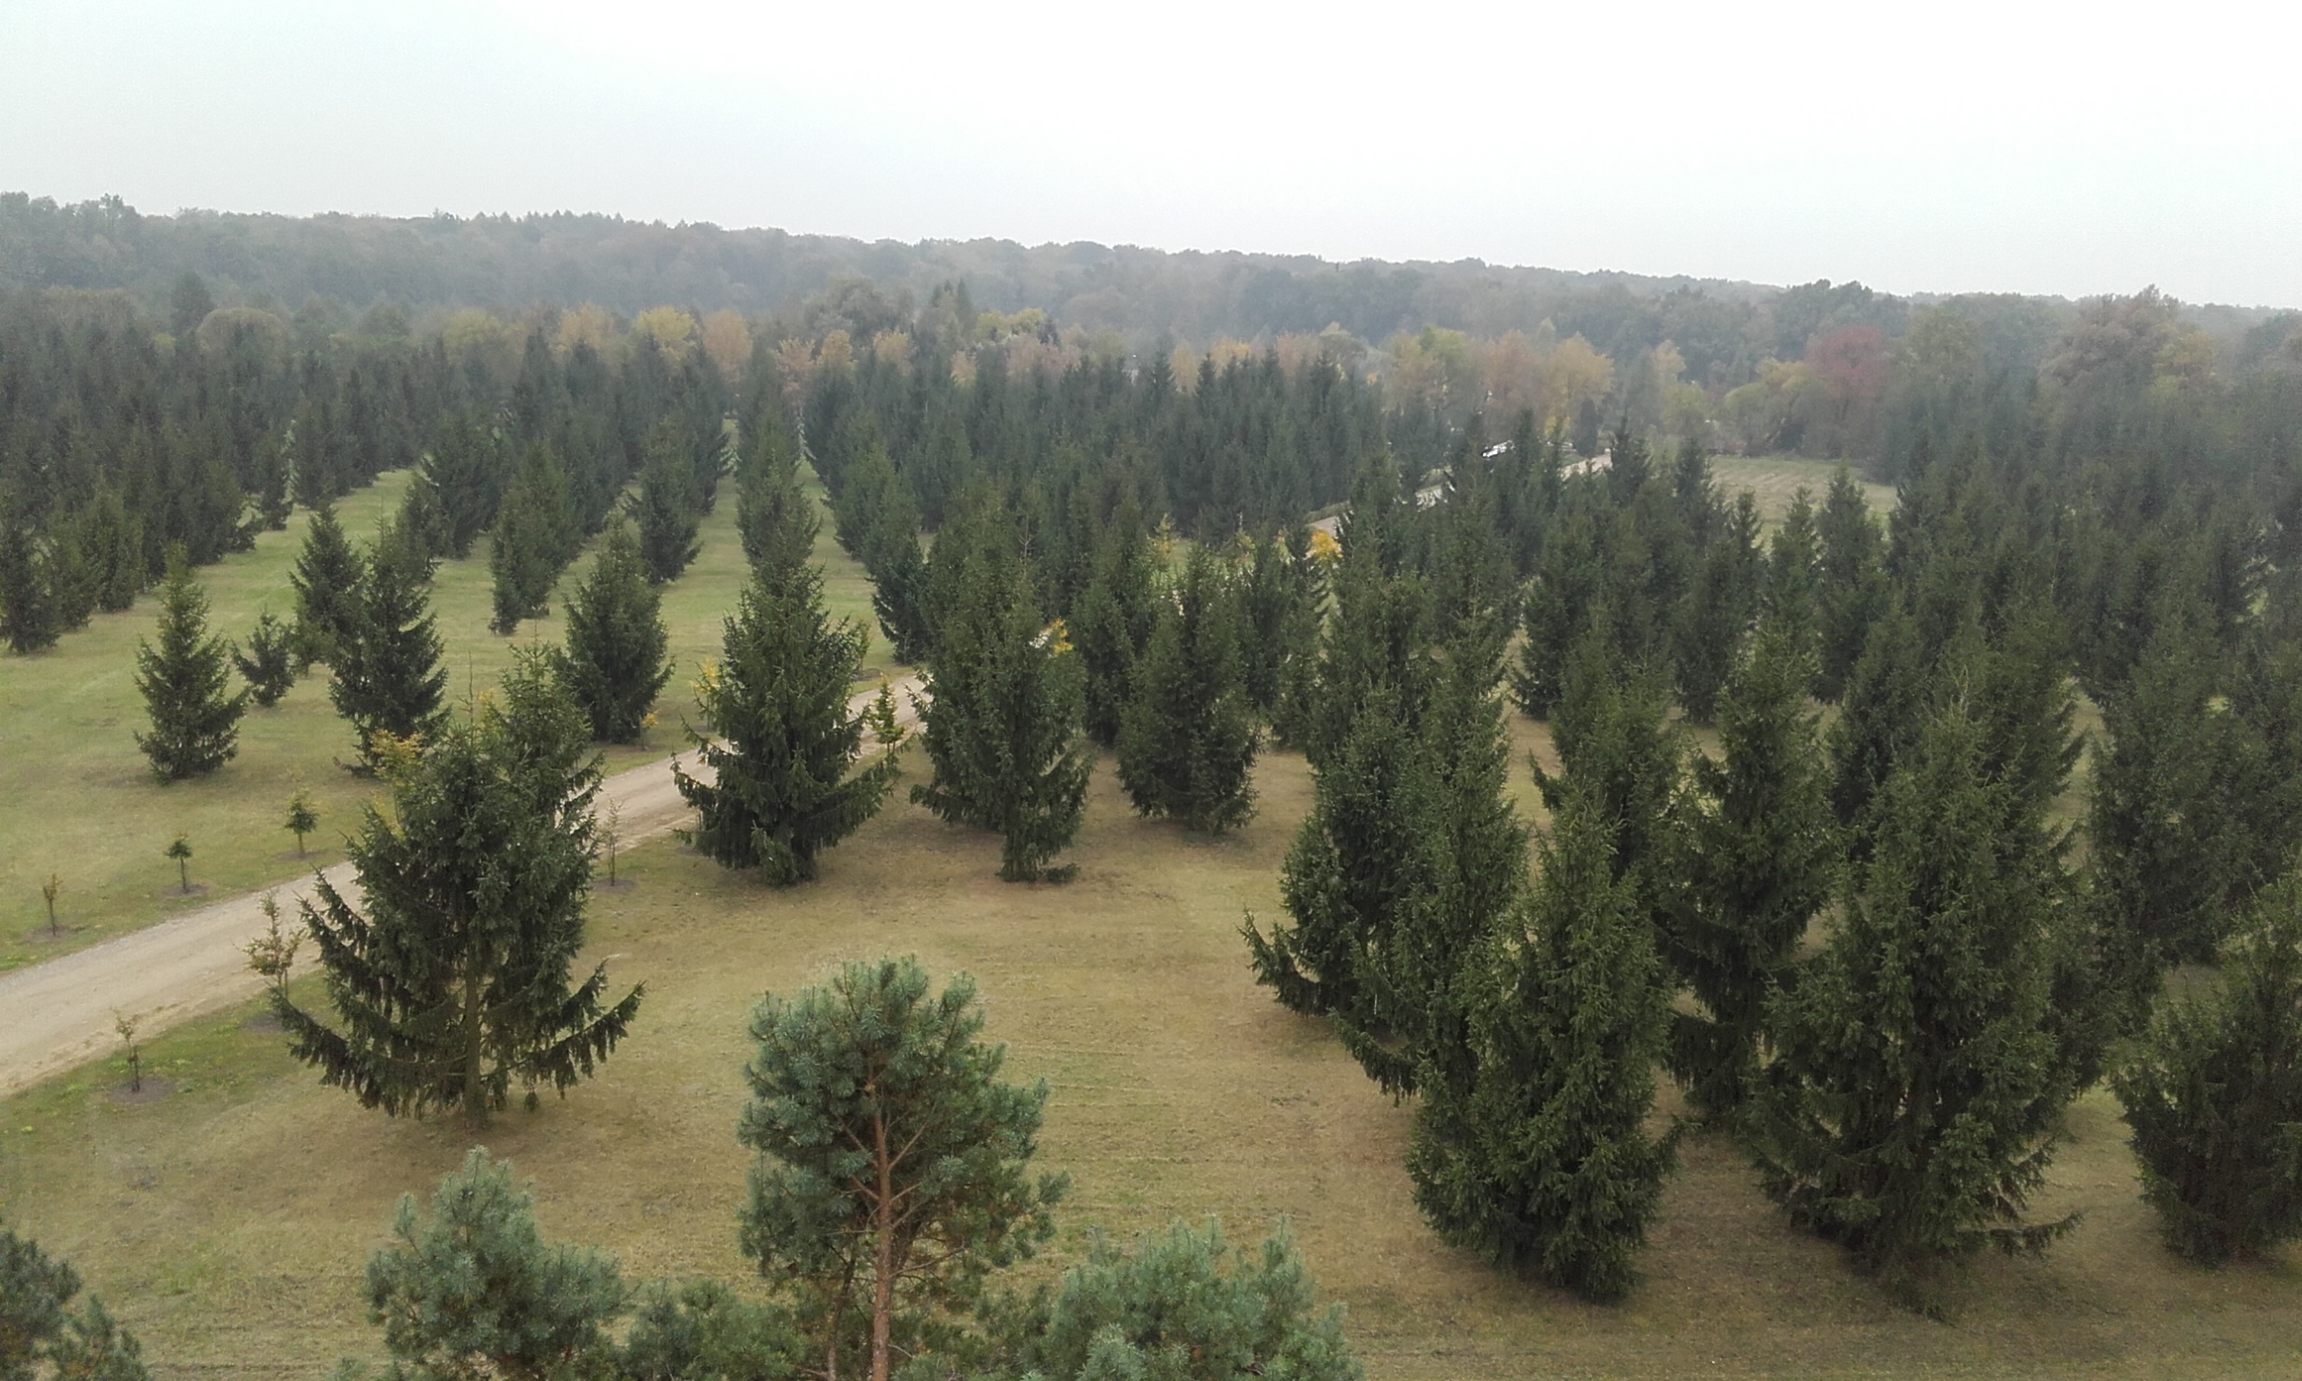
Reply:
M895 681L905 727L918 725L912 704L916 693L918 677ZM877 686L856 695L849 709L870 704L872 695ZM679 760L688 771L698 769L693 755ZM668 757L605 780L601 815L615 801L617 847L658 838L688 819L688 803L672 785L672 762ZM359 895L350 863L338 863L322 877L345 895ZM283 918L297 916L297 900L306 891L311 877L279 886ZM46 964L0 974L0 1096L115 1050L120 1036L113 1024L120 1015L136 1017L140 1036L157 1036L256 997L262 978L249 971L244 951L262 932L262 893L249 893Z

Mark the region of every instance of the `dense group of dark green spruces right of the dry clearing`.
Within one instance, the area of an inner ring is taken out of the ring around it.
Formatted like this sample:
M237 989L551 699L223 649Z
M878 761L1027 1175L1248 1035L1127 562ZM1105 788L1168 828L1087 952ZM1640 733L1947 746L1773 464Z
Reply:
M2026 1204L2106 1070L2175 1245L2302 1227L2272 1130L2302 1112L2302 918L2272 886L2302 842L2302 610L2293 566L2249 559L2274 534L2192 495L2139 575L1964 449L1920 458L1888 532L1842 474L1761 545L1694 451L1660 472L1618 435L1611 470L1529 474L1515 449L1473 437L1425 511L1360 481L1296 730L1289 921L1248 925L1275 997L1416 1098L1443 1236L1618 1298L1678 1135L1657 1070L1796 1222L1929 1307L1968 1254L2072 1227ZM2074 617L2095 598L2127 608ZM1561 760L1533 877L1506 686ZM2104 711L2083 868L2058 812L2079 686ZM2226 994L2159 1004L2226 941Z

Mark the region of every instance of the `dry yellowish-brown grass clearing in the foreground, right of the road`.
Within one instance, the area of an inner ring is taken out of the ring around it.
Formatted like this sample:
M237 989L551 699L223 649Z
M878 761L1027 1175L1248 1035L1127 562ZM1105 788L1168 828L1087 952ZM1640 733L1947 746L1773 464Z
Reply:
M1515 732L1545 750L1542 730ZM909 771L923 771L918 755ZM1522 799L1531 792L1515 771ZM1041 1160L1068 1169L1064 1252L1220 1215L1255 1238L1287 1215L1351 1310L1377 1379L1439 1376L2293 1376L2302 1268L2192 1271L2136 1199L2113 1102L2069 1116L2042 1213L2086 1222L2042 1261L1984 1259L1952 1323L1890 1307L1842 1254L1763 1201L1722 1142L1694 1139L1621 1307L1503 1280L1441 1248L1402 1172L1409 1109L1321 1022L1248 978L1243 909L1278 909L1278 863L1310 803L1298 757L1259 769L1261 812L1220 842L1135 819L1110 762L1061 888L994 882L997 842L893 803L776 893L670 845L624 861L592 951L647 983L599 1079L486 1137L534 1178L552 1236L633 1275L739 1280L744 1022L764 990L916 953L978 976L1011 1070L1052 1084ZM115 1068L0 1105L0 1215L71 1257L143 1335L161 1376L318 1376L373 1353L359 1273L401 1190L428 1190L467 1135L391 1121L320 1089L256 1013L147 1050L166 1091Z

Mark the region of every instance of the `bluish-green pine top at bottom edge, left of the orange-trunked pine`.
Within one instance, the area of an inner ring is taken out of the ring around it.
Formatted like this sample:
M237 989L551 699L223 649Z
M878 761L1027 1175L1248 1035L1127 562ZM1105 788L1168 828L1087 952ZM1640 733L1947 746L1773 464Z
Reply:
M534 1195L509 1162L472 1146L447 1174L430 1218L401 1195L394 1243L368 1259L368 1310L384 1351L417 1376L599 1374L605 1323L624 1312L615 1257L550 1248Z

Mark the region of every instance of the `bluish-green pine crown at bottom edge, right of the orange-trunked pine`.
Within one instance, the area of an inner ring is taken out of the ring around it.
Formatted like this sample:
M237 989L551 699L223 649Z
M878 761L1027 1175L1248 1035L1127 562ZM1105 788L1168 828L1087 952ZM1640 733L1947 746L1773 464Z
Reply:
M1135 1250L1096 1236L1087 1259L1034 1300L1017 1365L1052 1381L1360 1381L1342 1305L1317 1282L1282 1222L1259 1252L1222 1227L1176 1222Z

